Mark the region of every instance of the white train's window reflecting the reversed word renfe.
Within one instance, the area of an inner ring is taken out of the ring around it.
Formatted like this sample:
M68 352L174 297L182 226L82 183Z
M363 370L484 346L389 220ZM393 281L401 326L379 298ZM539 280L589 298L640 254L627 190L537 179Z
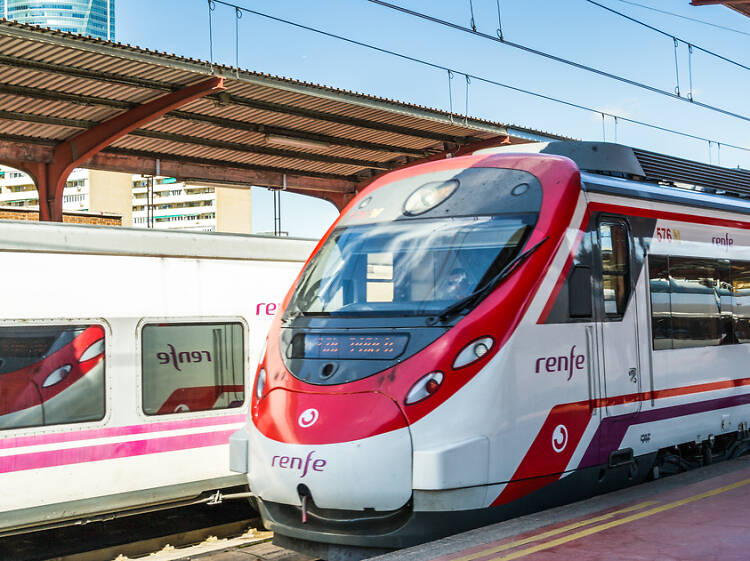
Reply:
M165 415L240 407L245 400L241 323L159 323L141 331L143 411Z

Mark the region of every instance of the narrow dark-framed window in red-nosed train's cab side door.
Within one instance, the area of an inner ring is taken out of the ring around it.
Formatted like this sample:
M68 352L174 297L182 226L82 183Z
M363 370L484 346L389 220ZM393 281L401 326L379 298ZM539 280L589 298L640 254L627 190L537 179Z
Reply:
M608 318L617 319L625 313L630 296L630 243L625 223L602 222L599 225L599 247L604 314Z

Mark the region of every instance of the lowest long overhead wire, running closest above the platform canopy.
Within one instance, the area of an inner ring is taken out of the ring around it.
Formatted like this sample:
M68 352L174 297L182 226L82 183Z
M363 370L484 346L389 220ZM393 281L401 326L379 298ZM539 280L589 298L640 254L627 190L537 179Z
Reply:
M497 80L492 80L490 78L485 78L483 76L478 76L476 74L471 74L469 72L464 72L464 71L461 71L461 70L458 70L458 69L454 69L454 68L450 68L450 67L447 67L447 66L443 66L441 64L436 64L434 62L430 62L430 61L427 61L427 60L424 60L424 59L420 59L420 58L417 58L417 57L413 57L413 56L410 56L410 55L406 55L406 54L403 54L403 53L399 53L399 52L396 52L396 51L385 49L383 47L377 47L375 45L371 45L369 43L364 43L364 42L358 41L356 39L351 39L349 37L344 37L342 35L337 35L335 33L329 32L329 31L323 31L322 29L317 29L317 28L311 27L309 25L304 25L304 24L297 23L297 22L294 22L294 21L291 21L291 20L287 20L287 19L284 19L284 18L280 18L280 17L277 17L277 16L272 16L272 15L266 14L264 12L259 12L257 10L252 10L250 8L245 8L243 6L232 4L232 3L226 2L224 0L209 0L209 2L213 2L213 3L216 3L216 4L222 4L224 6L228 6L228 7L234 8L235 10L242 10L243 12L254 14L256 16L259 16L259 17L262 17L262 18L266 18L266 19L269 19L271 21L275 21L275 22L278 22L278 23L284 23L286 25L290 25L290 26L296 27L298 29L304 29L305 31L310 31L312 33L317 33L317 34L323 35L325 37L329 37L329 38L332 38L332 39L337 39L337 40L340 40L340 41L344 41L344 42L350 43L352 45L357 45L357 46L360 46L360 47L371 49L371 50L374 50L374 51L379 52L379 53L383 53L383 54L387 54L387 55L391 55L391 56L400 58L402 60L407 60L407 61L410 61L410 62L415 62L417 64L421 64L423 66L427 66L429 68L433 68L433 69L436 69L436 70L442 70L443 72L447 72L449 77L451 77L454 73L455 74L463 74L469 80L477 80L479 82L483 82L483 83L486 83L486 84L491 84L491 85L498 86L498 87L501 87L501 88L505 88L505 89L508 89L508 90L511 90L511 91L515 91L515 92L518 92L518 93L522 93L522 94L526 94L526 95L531 95L531 96L537 97L539 99L544 99L544 100L547 100L547 101L552 101L552 102L555 102L555 103L566 105L568 107L572 107L572 108L575 108L575 109L580 109L582 111L587 111L589 113L593 113L593 114L596 114L596 115L602 115L602 116L606 116L606 117L611 117L612 119L616 119L618 121L624 121L624 122L631 123L631 124L634 124L634 125L640 125L640 126L643 126L643 127L648 127L648 128L652 128L652 129L655 129L655 130L659 130L659 131L662 131L662 132L667 132L667 133L671 133L671 134L683 136L683 137L686 137L686 138L692 138L694 140L700 140L700 141L703 141L703 142L714 143L714 144L725 146L725 147L728 147L728 148L734 148L734 149L737 149L737 150L742 150L742 151L745 151L745 152L750 152L750 148L746 148L744 146L737 146L737 145L734 145L734 144L729 144L727 142L721 142L721 141L718 141L718 140L709 139L709 138L705 138L705 137L702 137L702 136L697 136L697 135L693 135L693 134L690 134L690 133L678 131L676 129L670 129L668 127L662 127L662 126L659 126L659 125L654 125L652 123L647 123L645 121L639 121L639 120L636 120L636 119L631 119L629 117L623 117L622 115L617 115L617 114L614 114L614 113L610 113L609 111L602 111L602 110L599 110L599 109L594 109L593 107L587 107L585 105L581 105L579 103L575 103L575 102L572 102L572 101L566 101L566 100L555 98L555 97L552 97L552 96L549 96L549 95L541 94L539 92L534 92L534 91L527 90L527 89L524 89L524 88L519 88L517 86L511 86L511 85L505 84L503 82L498 82ZM739 117L739 118L744 118L745 120L750 121L750 118L748 118L748 117Z

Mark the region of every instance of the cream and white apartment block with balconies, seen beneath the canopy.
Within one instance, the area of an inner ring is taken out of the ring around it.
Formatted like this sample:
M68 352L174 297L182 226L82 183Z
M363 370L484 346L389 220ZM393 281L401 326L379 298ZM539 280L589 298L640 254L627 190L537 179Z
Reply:
M119 215L123 226L136 228L250 234L251 200L247 188L75 169L63 191L63 211ZM39 193L31 178L0 166L0 208L38 206Z

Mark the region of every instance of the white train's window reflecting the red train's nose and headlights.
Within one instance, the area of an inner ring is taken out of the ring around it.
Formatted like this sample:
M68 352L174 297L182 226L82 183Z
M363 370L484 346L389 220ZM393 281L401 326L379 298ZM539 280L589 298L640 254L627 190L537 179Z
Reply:
M0 327L0 429L103 419L104 348L99 325Z

